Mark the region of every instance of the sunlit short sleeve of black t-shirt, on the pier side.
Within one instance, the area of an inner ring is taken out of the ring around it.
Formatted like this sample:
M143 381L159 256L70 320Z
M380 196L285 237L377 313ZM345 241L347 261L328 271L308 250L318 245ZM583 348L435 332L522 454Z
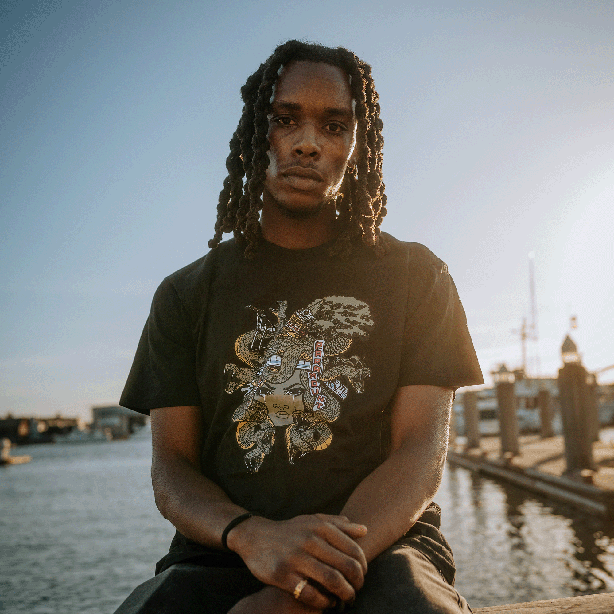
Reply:
M398 386L483 383L461 299L437 260L410 279Z

